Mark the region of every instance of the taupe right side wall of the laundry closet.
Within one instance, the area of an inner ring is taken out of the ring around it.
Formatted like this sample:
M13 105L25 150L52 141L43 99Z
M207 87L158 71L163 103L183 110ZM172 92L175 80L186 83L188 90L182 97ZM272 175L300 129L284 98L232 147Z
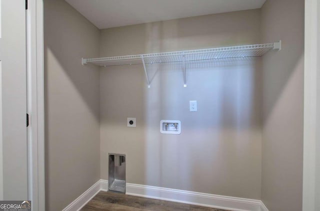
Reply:
M282 40L263 57L261 197L270 211L301 211L304 0L267 0L261 34Z

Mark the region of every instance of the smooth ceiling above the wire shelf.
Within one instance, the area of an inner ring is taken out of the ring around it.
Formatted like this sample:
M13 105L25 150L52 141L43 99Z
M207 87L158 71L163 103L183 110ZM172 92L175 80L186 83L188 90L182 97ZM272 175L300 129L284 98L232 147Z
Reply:
M265 0L65 0L96 27L111 28L260 8Z

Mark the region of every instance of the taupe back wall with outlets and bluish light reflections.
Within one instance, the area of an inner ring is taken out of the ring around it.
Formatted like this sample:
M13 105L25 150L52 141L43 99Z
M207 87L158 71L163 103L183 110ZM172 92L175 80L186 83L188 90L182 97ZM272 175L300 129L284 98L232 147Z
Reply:
M100 56L259 42L256 9L104 29ZM186 88L181 64L147 66L151 88L142 65L101 68L101 179L107 154L120 153L127 183L260 199L260 59L192 62ZM162 119L180 120L181 134L160 134Z

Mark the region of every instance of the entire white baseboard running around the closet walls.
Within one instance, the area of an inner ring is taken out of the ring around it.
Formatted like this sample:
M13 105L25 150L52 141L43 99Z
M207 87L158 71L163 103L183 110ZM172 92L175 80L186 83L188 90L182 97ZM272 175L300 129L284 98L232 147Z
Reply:
M70 205L64 208L63 211L78 211L99 191L107 190L108 181L99 180ZM126 184L126 194L229 211L268 211L260 200L226 197L131 183Z

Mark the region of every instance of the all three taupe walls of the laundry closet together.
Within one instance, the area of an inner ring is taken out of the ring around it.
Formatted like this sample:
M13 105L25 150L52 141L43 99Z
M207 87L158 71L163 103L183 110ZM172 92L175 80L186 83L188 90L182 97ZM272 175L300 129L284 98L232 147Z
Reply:
M128 183L300 211L303 3L267 0L262 9L99 31L65 1L45 0L46 210L107 180L107 154L120 153ZM282 50L262 59L187 64L186 88L179 63L147 65L151 88L142 65L99 72L80 64L81 57L279 39ZM197 112L188 111L189 100ZM126 127L127 117L136 117L136 128ZM180 120L181 134L160 134L162 119Z

